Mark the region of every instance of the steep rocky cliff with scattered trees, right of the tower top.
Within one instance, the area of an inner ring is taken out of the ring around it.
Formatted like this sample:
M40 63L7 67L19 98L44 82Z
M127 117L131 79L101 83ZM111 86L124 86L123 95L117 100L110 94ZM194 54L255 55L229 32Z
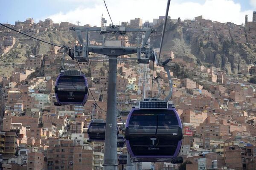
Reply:
M152 36L154 47L160 46L162 27ZM233 37L223 37L217 34L216 40L209 40L209 36L195 35L183 23L167 24L163 51L174 51L175 57L185 61L195 59L198 63L208 63L215 67L224 68L227 73L237 74L243 64L254 64L256 61L256 45L239 43Z

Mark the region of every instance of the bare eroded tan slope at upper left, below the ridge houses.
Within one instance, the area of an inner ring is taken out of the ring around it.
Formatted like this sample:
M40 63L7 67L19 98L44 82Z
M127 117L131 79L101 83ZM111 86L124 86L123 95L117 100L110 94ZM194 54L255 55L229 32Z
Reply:
M68 45L68 42L75 40L76 34L69 31L46 31L35 35L35 37L58 45ZM47 54L51 46L21 34L17 34L15 38L18 41L13 48L0 56L0 75L10 76L13 68L24 64L29 55Z

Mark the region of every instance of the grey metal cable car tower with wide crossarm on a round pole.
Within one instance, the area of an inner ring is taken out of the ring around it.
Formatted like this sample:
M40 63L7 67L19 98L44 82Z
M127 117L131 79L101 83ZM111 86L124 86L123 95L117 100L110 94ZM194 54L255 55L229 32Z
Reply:
M137 53L134 58L138 63L148 63L149 60L155 59L154 51L147 45L148 38L155 30L153 28L125 28L123 26L113 27L70 27L70 31L76 31L80 44L76 45L69 51L72 58L78 59L80 62L88 62L89 59L106 59L106 57L89 58L89 52L103 54L108 56L108 103L107 103L107 119L105 132L105 151L104 151L104 170L117 170L117 129L116 129L116 72L118 56ZM85 41L82 37L85 32ZM90 44L90 33L98 32L102 34L100 44ZM126 46L121 40L105 40L105 34L125 35L127 32L133 32L138 35L145 34L143 40L138 41L137 46ZM122 59L122 58L121 58ZM127 58L126 58L127 59ZM125 60L125 58L123 58ZM127 59L128 60L128 59Z

